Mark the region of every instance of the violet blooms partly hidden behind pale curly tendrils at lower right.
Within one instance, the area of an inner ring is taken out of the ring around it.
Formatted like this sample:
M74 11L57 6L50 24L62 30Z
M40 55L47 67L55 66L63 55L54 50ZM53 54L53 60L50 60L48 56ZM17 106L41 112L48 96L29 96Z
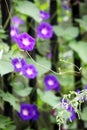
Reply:
M71 113L69 120L74 121L76 119L76 112L74 108L71 106L71 104L69 104L67 100L61 100L60 102L61 102L62 108L66 109L67 111Z

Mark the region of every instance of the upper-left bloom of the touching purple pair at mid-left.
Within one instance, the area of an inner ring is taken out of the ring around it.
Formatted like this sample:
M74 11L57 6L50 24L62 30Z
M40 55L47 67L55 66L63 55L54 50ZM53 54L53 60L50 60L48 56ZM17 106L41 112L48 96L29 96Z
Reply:
M26 62L23 58L14 58L12 59L12 64L16 72L21 72L22 67L26 64Z

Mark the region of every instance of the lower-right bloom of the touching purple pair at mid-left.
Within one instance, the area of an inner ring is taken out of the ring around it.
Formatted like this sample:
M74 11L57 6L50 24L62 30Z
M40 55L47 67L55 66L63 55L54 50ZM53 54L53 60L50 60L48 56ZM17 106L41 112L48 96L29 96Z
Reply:
M37 69L33 64L26 64L23 67L23 75L27 78L33 79L37 76Z

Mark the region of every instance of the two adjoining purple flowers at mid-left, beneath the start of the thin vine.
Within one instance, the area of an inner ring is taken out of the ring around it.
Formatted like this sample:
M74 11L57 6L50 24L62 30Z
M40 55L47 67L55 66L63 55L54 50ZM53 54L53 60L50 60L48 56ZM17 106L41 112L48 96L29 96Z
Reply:
M33 79L37 76L37 69L33 64L27 64L23 58L12 59L12 64L16 72L21 72L25 77Z

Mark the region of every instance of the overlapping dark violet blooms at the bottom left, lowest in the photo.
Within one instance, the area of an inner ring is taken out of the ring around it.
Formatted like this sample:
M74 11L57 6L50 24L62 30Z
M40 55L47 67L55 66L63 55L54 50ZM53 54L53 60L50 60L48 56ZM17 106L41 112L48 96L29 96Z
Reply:
M40 112L36 105L22 103L18 113L22 120L38 120Z

